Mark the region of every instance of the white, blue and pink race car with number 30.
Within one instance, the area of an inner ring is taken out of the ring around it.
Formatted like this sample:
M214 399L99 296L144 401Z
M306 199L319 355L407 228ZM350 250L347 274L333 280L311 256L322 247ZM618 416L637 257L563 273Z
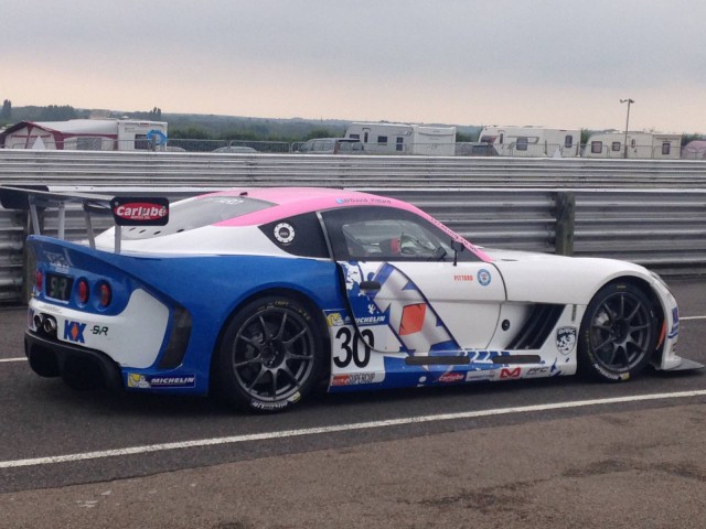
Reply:
M30 207L57 199L26 194ZM217 393L275 412L320 385L577 371L620 382L648 365L703 367L676 355L677 304L655 273L480 248L395 198L266 187L171 205L73 199L109 208L116 226L81 242L28 238L36 268L25 353L36 374L75 388Z

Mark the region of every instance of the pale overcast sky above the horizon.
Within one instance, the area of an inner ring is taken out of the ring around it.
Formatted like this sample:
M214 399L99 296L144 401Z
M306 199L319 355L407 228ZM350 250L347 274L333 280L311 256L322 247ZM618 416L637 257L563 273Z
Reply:
M706 132L704 0L1 0L13 106Z

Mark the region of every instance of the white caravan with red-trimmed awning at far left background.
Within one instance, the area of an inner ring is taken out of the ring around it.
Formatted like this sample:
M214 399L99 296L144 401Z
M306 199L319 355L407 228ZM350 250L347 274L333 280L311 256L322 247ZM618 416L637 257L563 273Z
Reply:
M135 151L161 148L167 122L133 119L20 121L0 133L6 149Z

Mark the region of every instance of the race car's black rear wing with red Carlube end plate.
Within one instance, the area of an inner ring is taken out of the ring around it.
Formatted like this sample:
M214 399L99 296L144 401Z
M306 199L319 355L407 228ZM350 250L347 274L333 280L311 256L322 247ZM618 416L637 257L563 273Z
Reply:
M58 210L57 237L64 239L66 204L81 204L90 248L96 247L92 214L113 215L116 253L120 253L121 226L164 226L169 223L169 199L167 197L60 192L50 191L43 185L24 187L0 185L0 205L6 209L29 210L32 231L35 235L42 235L40 210L56 207Z

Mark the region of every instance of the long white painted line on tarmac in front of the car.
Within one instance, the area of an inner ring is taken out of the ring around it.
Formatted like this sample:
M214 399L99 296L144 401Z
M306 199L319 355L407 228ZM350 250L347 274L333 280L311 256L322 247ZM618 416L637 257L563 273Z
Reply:
M404 424L419 424L436 421L452 421L459 419L474 419L479 417L506 415L511 413L531 413L535 411L560 410L567 408L584 408L587 406L614 404L624 402L639 402L646 400L682 399L691 397L705 397L706 390L680 391L674 393L637 395L632 397L614 397L610 399L577 400L574 402L558 402L554 404L522 406L513 408L500 408L495 410L466 411L459 413L442 413L438 415L408 417L403 419L389 419L386 421L357 422L352 424L339 424L332 427L304 428L300 430L284 430L280 432L253 433L248 435L234 435L229 438L200 439L182 441L178 443L148 444L143 446L130 446L127 449L105 450L99 452L84 452L78 454L55 455L49 457L34 457L30 460L0 461L0 468L15 468L20 466L52 465L74 461L98 460L101 457L117 457L122 455L147 454L150 452L163 452L168 450L193 449L201 446L214 446L221 444L236 444L248 441L266 441L274 439L297 438L302 435L315 435L323 433L347 432L373 428L389 428Z

